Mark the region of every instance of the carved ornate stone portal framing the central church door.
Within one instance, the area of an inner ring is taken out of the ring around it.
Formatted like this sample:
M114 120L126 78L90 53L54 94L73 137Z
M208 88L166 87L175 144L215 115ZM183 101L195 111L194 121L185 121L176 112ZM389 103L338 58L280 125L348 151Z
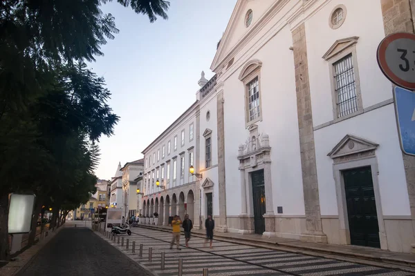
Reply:
M252 196L251 172L264 170L264 184L266 195L265 236L275 235L275 215L273 206L273 187L270 170L270 143L267 134L258 132L258 126L248 127L249 137L245 144L239 146L238 160L241 172L241 215L239 233L255 233L254 207Z

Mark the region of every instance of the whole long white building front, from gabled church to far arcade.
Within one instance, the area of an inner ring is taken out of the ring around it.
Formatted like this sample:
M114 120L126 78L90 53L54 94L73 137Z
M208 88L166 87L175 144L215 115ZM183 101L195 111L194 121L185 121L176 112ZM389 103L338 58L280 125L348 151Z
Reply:
M202 227L213 215L218 231L411 252L415 161L400 151L392 84L376 61L402 27L387 9L237 1L216 75L143 151L143 210L163 225L190 213Z

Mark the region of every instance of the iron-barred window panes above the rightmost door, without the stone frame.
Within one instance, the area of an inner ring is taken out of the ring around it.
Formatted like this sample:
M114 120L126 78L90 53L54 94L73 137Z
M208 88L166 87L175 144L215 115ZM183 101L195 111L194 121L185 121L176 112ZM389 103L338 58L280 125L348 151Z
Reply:
M351 54L333 63L338 118L358 111L356 81Z

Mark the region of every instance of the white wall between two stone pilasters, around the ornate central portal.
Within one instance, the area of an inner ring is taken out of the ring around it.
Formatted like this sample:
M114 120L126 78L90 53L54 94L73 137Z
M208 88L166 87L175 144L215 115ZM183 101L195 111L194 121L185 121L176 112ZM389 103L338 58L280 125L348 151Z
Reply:
M277 213L277 206L283 206L283 215L304 215L293 53L289 50L291 41L291 30L286 27L246 62L251 59L262 61L263 121L257 125L259 132L270 137L274 212ZM245 88L238 79L241 69L225 80L224 88L226 188L237 195L241 195L238 146L248 139L244 121ZM240 200L241 196L229 197L227 215L241 213Z

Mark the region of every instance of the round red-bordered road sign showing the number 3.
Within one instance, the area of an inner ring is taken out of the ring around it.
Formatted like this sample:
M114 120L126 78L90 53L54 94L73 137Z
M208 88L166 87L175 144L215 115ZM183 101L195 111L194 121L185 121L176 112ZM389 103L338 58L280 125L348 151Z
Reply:
M377 58L380 70L391 82L415 90L415 34L389 34L380 42Z

